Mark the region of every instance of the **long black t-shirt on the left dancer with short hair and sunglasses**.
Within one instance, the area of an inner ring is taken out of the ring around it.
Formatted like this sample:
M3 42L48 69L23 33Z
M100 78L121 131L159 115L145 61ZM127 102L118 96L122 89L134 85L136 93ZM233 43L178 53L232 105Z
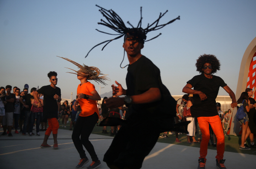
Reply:
M61 97L60 88L53 88L50 85L42 86L37 90L38 93L44 94L44 106L43 115L44 118L58 118L58 104L54 99L54 95L57 94Z

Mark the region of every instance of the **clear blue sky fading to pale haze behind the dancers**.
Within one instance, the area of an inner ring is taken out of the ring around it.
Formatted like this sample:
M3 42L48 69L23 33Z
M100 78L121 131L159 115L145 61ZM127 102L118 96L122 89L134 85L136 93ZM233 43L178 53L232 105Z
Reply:
M49 85L47 73L58 73L58 87L63 98L76 94L79 80L68 69L75 65L56 56L67 57L80 64L98 67L111 81L100 93L111 91L117 80L124 88L127 68L121 69L123 38L105 47L98 43L115 38L97 32L115 33L98 25L104 17L102 6L114 10L126 23L136 26L142 6L142 27L155 21L159 13L168 12L160 20L164 24L180 16L180 20L163 29L150 32L141 53L161 71L162 81L172 95L182 95L186 81L196 72L196 59L201 54L214 54L221 63L215 75L224 79L236 92L243 54L256 37L255 0L0 0L0 86L32 87ZM128 24L126 24L128 27ZM127 56L123 65L128 64ZM96 87L99 92L99 87ZM219 95L228 95L220 89Z

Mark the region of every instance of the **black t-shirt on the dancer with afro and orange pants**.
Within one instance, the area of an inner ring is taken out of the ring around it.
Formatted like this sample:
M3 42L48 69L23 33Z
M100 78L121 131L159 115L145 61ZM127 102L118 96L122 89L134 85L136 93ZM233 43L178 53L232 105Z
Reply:
M218 115L216 108L216 97L220 86L223 88L227 84L222 78L212 75L209 79L204 74L194 76L187 83L192 85L194 90L206 94L207 99L201 100L198 94L193 95L193 105L190 107L192 117L211 117Z

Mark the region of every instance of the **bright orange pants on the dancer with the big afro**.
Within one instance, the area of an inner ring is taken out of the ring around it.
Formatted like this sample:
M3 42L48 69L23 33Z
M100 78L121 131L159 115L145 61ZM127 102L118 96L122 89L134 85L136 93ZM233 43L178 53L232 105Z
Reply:
M216 159L223 159L225 151L225 138L222 129L222 123L218 115L211 117L198 117L199 128L202 132L202 141L200 143L200 157L206 161L208 142L210 140L209 124L211 124L212 130L217 137L217 156Z

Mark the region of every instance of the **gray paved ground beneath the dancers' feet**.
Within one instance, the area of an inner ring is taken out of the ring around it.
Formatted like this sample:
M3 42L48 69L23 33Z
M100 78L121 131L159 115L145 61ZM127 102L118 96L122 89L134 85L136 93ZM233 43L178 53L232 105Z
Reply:
M3 129L0 129L2 133ZM79 154L72 142L72 131L58 130L58 150L53 149L52 135L48 144L51 148L40 148L44 138L41 136L22 136L14 134L13 137L0 137L0 168L1 169L75 169L79 163ZM101 169L107 169L102 161L104 153L112 142L113 137L91 134L90 140L102 162ZM246 150L245 150L246 151ZM88 154L88 153L87 153ZM208 150L206 169L216 169L216 150ZM156 143L151 153L144 159L143 169L196 169L198 166L199 148L167 143ZM88 155L89 158L89 155ZM90 158L89 158L90 159ZM255 169L256 156L240 153L225 152L225 166L227 169ZM91 164L85 165L84 168Z

